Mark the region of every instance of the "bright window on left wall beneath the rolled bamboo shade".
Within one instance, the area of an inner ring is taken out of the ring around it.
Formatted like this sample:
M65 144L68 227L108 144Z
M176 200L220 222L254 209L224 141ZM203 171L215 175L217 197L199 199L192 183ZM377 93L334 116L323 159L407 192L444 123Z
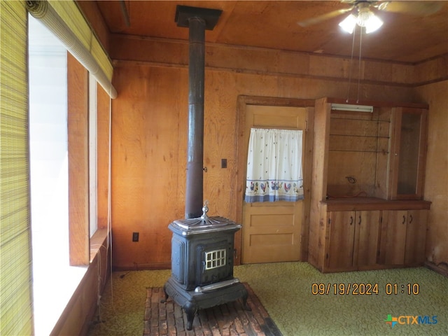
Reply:
M83 172L83 169L78 169L77 158L69 161L69 134L76 133L78 126L67 127L68 56L64 45L29 16L31 230L34 321L38 335L50 334L86 270L86 267L70 267L72 256L69 241L72 242L72 239L69 235L69 214L73 211L69 206L80 209L81 213L89 211L88 216L79 218L76 224L78 227L84 226L89 237L97 230L97 82L89 76L88 94L81 94L88 97L88 113L87 106L77 112L83 114L81 119L87 119L88 114L88 120L79 126L83 128L88 124L89 127L88 144L85 141L88 158L85 155L86 169ZM81 134L81 137L87 137L87 134ZM71 148L81 146L84 144L78 146L76 139L71 141ZM75 155L82 156L83 148L76 152ZM70 177L69 172L76 176ZM78 176L86 181L86 188L85 195L76 198L73 194L78 191L74 190L73 193L69 185L70 181L79 181ZM87 201L77 204L79 199ZM84 264L88 264L89 241L85 237L82 239L87 245L87 262Z

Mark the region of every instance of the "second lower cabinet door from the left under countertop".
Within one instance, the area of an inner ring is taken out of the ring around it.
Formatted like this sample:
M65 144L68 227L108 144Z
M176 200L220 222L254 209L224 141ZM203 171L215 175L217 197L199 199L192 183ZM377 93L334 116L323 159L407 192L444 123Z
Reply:
M356 211L353 265L368 266L377 263L379 249L380 211Z

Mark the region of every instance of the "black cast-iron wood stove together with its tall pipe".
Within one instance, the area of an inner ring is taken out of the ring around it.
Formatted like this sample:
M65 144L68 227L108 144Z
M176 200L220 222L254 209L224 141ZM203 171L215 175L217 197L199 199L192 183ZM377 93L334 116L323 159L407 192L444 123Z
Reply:
M177 6L175 21L189 28L188 153L186 219L168 225L172 235L172 276L165 300L172 297L187 315L191 330L198 309L243 300L247 290L233 277L234 236L241 225L223 217L208 217L203 200L205 29L214 29L221 10ZM202 210L202 211L201 211ZM202 215L201 215L202 214ZM165 301L164 300L164 301Z

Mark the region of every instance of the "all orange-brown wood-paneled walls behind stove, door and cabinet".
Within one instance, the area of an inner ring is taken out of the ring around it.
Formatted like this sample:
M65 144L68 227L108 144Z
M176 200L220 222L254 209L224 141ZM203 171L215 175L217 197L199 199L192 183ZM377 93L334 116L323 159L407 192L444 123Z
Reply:
M113 101L113 237L116 268L170 265L167 225L183 218L188 113L188 42L109 33L91 1L80 7L116 64ZM430 211L428 258L448 260L446 137L447 57L419 64L353 64L344 57L206 45L204 197L212 215L235 219L237 97L351 98L430 104L426 200ZM414 87L417 87L414 90ZM445 136L441 135L445 134ZM439 139L442 139L440 141ZM221 158L228 168L221 169ZM432 164L435 162L435 165ZM132 232L140 241L132 242Z

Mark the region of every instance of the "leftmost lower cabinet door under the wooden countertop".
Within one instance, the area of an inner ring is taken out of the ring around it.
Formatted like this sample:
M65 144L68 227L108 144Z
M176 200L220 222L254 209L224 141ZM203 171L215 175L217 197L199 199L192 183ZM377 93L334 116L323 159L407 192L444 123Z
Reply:
M326 266L329 269L353 269L353 242L355 237L355 211L332 211L328 230Z

